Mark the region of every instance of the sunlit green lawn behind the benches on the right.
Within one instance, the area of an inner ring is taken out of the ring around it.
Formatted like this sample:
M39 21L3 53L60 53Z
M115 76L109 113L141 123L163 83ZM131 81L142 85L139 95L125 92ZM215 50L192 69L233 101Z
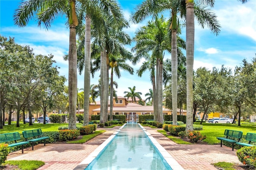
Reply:
M200 123L195 123L195 124L200 124ZM202 125L203 125L203 130L200 130L200 132L201 134L206 135L206 139L203 141L207 142L208 144L220 143L220 140L218 140L216 137L224 136L225 129L242 131L243 135L246 135L247 132L256 133L256 123L244 122L244 123L241 123L241 126L238 126L237 123L236 124L202 123Z

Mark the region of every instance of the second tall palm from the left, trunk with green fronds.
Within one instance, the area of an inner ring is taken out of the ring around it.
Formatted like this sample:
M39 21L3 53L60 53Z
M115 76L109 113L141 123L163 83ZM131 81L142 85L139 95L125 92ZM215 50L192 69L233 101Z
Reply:
M86 0L82 1L82 7L80 8L80 18L85 18L85 33L80 34L84 36L81 48L84 48L84 99L89 99L90 97L90 72L91 70L91 24L94 30L98 32L98 35L102 37L105 34L109 24L108 17L112 17L112 24L119 23L120 18L122 20L122 12L120 7L116 3L116 0ZM81 49L80 48L80 49ZM103 50L103 49L102 49ZM102 56L104 53L102 53ZM81 68L80 68L81 69ZM103 67L102 67L103 69ZM104 69L106 71L106 69ZM104 76L104 75L102 75ZM103 79L102 79L103 81ZM106 83L106 82L105 82ZM106 86L102 86L106 87ZM104 97L103 95L101 98ZM103 99L103 98L102 98ZM105 101L104 99L103 101ZM106 102L108 103L108 102ZM89 123L89 100L84 100L84 125Z

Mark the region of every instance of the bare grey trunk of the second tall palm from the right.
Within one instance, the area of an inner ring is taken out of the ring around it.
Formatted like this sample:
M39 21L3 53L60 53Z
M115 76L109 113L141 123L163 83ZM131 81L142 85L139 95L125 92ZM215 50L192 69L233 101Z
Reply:
M172 125L177 124L177 94L178 94L178 57L177 32L172 30Z

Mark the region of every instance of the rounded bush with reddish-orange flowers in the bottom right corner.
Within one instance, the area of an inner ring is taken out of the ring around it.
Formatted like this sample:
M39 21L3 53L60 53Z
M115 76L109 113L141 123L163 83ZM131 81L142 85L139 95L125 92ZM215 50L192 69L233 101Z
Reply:
M236 151L240 162L250 168L256 168L256 146L244 146Z

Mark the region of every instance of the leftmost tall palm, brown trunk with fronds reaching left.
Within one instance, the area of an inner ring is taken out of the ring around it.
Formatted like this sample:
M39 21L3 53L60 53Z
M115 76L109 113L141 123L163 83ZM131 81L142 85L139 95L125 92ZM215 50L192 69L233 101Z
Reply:
M48 30L50 24L58 15L65 14L68 18L70 37L68 51L68 96L69 96L69 129L76 129L76 96L77 96L77 53L76 53L76 0L44 1L28 0L22 1L14 14L14 24L24 27L36 13L38 26L43 23Z

